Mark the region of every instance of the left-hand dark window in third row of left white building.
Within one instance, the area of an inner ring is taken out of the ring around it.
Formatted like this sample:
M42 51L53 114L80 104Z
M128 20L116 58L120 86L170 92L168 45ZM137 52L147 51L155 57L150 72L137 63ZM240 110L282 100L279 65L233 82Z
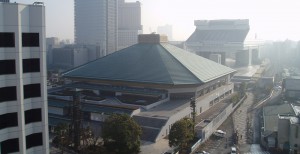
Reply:
M17 87L0 88L0 102L17 100Z

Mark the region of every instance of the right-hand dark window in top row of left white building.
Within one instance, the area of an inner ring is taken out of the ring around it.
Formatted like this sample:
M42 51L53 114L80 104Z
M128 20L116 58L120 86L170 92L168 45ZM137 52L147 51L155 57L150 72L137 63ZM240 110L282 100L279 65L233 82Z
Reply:
M39 33L23 33L22 34L23 47L38 47L40 46Z

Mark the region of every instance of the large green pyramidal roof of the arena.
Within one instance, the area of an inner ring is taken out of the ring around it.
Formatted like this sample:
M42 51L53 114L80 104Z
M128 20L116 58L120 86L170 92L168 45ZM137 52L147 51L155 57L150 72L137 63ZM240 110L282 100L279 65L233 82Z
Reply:
M152 84L202 84L235 70L168 43L139 43L64 73L64 77Z

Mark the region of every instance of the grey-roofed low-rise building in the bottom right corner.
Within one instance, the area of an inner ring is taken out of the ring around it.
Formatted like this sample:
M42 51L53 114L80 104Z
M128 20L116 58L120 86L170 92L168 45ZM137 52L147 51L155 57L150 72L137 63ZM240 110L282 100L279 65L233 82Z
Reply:
M300 106L289 103L264 107L262 145L297 154L300 144L299 111Z

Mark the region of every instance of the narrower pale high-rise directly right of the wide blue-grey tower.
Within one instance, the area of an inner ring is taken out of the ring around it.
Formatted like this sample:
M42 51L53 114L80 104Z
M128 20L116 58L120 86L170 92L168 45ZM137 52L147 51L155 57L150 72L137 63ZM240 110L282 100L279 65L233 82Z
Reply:
M118 49L123 49L138 42L142 33L141 3L118 0Z

